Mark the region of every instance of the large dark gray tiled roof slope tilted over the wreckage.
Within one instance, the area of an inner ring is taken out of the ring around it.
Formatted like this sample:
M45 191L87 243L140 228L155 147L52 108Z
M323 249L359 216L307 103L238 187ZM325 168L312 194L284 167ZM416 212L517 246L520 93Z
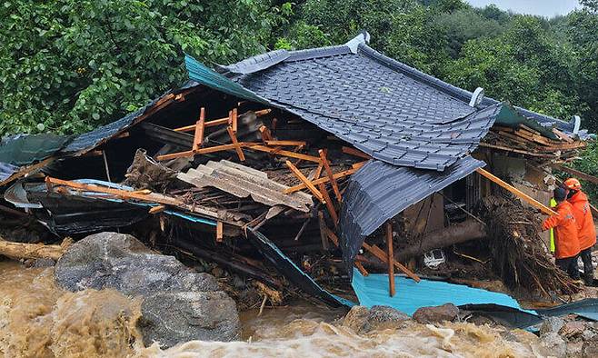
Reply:
M223 68L273 104L401 166L444 170L475 149L500 110L476 110L441 81L364 43L354 51L276 51Z

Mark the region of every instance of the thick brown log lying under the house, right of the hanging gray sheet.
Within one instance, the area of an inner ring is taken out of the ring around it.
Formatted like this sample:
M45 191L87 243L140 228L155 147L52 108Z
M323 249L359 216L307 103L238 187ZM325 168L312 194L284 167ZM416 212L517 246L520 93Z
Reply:
M421 244L413 244L398 251L394 258L396 261L404 262L413 256L425 254L433 249L442 249L452 244L464 243L470 240L482 239L486 236L485 225L473 220L467 220L463 223L453 224L442 230L436 230L425 234Z

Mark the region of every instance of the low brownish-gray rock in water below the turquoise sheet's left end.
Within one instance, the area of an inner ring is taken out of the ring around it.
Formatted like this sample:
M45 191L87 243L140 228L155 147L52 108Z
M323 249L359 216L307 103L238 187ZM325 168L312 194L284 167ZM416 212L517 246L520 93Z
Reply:
M344 317L343 325L356 333L365 333L384 328L396 328L400 323L411 318L400 311L388 306L354 306Z

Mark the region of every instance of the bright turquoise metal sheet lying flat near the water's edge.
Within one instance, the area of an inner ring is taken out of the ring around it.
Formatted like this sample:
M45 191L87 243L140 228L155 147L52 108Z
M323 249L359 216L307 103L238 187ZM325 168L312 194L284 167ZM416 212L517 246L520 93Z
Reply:
M403 313L414 314L421 307L438 306L444 303L454 305L493 303L523 311L517 301L505 293L494 293L479 288L472 288L463 284L444 283L442 281L414 280L403 276L394 276L397 292L394 297L388 294L388 275L384 273L370 273L364 277L354 270L353 289L359 299L359 304L366 307L385 305L393 307Z

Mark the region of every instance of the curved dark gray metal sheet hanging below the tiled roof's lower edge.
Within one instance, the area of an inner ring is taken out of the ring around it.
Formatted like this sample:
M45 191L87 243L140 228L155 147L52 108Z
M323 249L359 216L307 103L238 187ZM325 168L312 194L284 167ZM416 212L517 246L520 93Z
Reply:
M340 214L341 249L347 269L365 237L401 213L407 206L423 200L462 179L483 162L466 156L444 172L397 167L370 161L349 179ZM350 271L351 272L351 271Z

